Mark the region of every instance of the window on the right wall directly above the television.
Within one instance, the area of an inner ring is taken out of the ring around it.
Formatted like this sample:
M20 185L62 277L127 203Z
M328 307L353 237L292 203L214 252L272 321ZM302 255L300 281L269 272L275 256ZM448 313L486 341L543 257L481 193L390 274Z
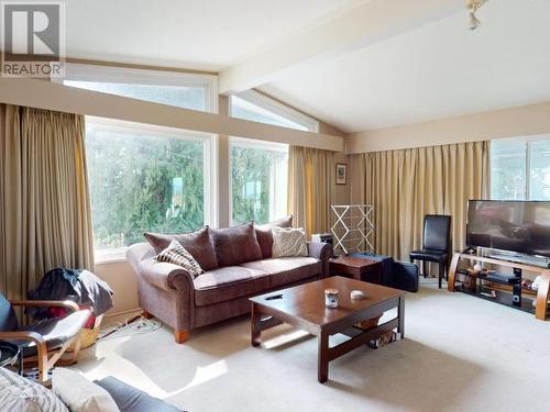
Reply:
M491 143L491 198L550 200L550 137Z

